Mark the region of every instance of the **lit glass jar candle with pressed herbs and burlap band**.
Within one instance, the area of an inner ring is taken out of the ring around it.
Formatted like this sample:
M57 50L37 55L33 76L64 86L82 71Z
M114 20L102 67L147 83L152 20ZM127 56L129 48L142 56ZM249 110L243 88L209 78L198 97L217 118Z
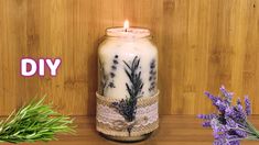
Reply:
M147 29L111 27L98 47L97 131L132 142L159 126L158 49Z

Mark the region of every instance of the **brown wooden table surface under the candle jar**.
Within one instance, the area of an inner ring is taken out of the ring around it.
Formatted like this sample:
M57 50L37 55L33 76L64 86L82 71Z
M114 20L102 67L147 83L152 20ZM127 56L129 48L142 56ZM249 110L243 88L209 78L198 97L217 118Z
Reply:
M95 116L75 116L77 135L61 135L58 141L47 145L117 145L101 137L95 130ZM259 115L249 119L259 129ZM163 115L160 116L160 129L140 143L134 145L209 145L213 142L211 129L203 129L201 120L194 115ZM28 145L29 143L22 144ZM45 143L33 143L33 145ZM258 145L259 142L242 142L242 145ZM46 145L46 144L45 144Z

